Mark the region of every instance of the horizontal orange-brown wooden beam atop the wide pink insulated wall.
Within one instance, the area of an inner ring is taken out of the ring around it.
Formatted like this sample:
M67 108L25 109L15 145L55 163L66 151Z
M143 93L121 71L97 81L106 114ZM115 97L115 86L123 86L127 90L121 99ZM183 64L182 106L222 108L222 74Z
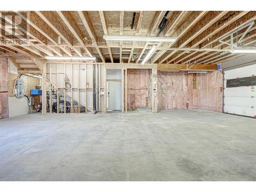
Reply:
M186 64L167 64L161 63L157 64L157 70L159 71L179 71L179 70L186 70ZM194 65L189 70L217 70L217 64L198 64Z

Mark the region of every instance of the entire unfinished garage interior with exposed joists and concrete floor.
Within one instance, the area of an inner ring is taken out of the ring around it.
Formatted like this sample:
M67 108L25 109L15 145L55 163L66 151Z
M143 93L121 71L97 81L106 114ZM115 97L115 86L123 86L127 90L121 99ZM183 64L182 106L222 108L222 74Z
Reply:
M0 181L256 181L256 11L79 9L1 11Z

